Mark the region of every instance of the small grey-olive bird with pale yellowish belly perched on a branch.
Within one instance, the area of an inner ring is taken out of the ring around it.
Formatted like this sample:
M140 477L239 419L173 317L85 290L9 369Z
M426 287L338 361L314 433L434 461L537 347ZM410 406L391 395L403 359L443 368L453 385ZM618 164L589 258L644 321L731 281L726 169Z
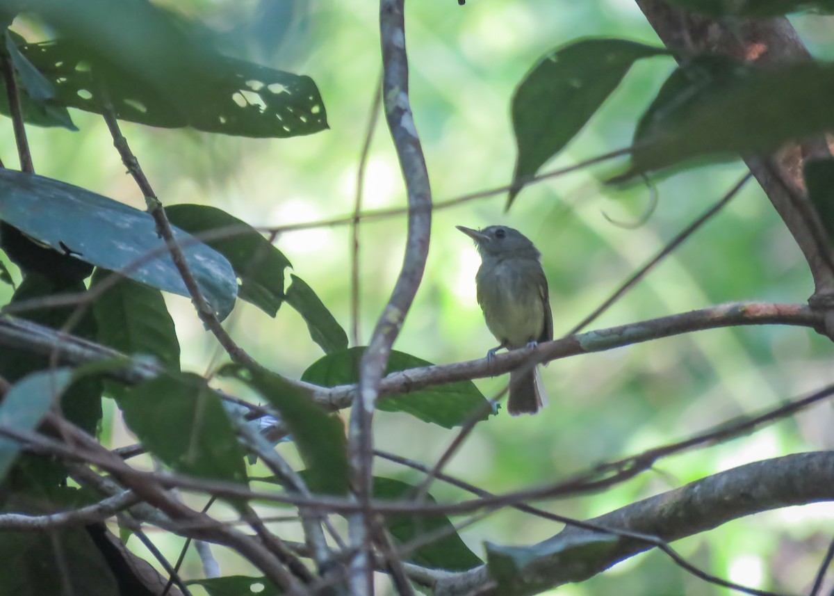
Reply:
M535 346L553 339L553 316L541 253L518 230L505 225L490 225L472 230L463 225L458 230L475 240L480 254L480 268L475 275L478 304L484 311L486 326L500 341L486 354L495 357L501 348L515 350ZM507 411L512 416L535 414L545 395L535 368L510 372L510 399Z

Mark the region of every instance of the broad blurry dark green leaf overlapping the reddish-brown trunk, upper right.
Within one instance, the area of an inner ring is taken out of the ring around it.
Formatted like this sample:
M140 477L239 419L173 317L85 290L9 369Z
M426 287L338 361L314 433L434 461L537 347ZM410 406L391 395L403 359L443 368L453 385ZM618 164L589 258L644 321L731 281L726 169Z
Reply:
M769 153L790 140L834 128L827 98L834 65L768 66L704 56L666 80L635 134L631 168L612 182L691 165L691 159L728 159Z

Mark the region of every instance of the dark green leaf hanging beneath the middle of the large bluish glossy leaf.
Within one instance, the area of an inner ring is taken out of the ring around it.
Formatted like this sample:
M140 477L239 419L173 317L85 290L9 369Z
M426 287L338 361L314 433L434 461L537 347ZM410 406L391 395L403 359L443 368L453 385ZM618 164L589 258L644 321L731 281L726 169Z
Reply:
M128 356L154 356L168 370L179 371L179 341L162 293L102 269L93 273L90 288L113 281L93 302L98 342Z

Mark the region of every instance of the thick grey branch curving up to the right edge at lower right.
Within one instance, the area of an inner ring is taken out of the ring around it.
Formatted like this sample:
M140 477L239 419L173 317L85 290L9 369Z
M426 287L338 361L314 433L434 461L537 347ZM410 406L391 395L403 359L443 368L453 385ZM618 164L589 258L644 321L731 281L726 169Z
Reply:
M834 499L832 486L834 452L798 453L702 478L589 521L596 526L649 534L671 542L753 513L831 501ZM605 534L569 526L535 547L525 548L528 553L540 553L540 556L519 568L511 593L525 593L525 586L541 591L584 581L651 548L634 538L609 535L610 543L595 556L585 551L581 557L574 553L571 558L571 545L601 536ZM441 578L435 586L435 596L466 593L497 596L500 592L485 567Z

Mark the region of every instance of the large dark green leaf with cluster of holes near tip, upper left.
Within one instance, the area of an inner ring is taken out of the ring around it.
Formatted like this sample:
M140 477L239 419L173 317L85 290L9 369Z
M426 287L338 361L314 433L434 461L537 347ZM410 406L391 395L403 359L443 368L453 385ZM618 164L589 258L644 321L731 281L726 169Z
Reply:
M213 33L146 0L38 0L26 9L59 35L23 54L53 82L58 100L120 119L251 137L327 129L309 77L228 58Z

